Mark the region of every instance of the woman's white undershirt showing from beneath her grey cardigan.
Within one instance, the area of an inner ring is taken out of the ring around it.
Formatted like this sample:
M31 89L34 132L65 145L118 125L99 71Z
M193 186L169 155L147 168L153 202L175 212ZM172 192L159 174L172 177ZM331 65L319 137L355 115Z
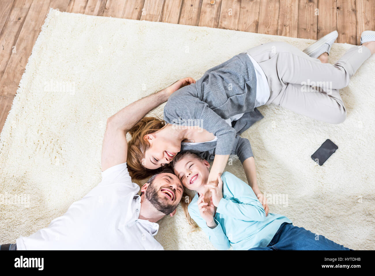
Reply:
M262 68L259 66L259 64L255 61L254 58L251 57L251 55L247 54L250 58L251 62L253 63L254 70L255 70L255 76L257 77L257 92L256 92L256 98L255 98L255 105L254 107L260 107L269 100L270 98L270 87L268 85L266 74L264 74ZM225 120L229 126L232 126L233 121L237 121L239 118L241 118L243 113L233 115L232 117ZM214 139L211 141L206 142L181 142L181 145L197 145L201 143L208 143L216 141L217 137L215 136Z

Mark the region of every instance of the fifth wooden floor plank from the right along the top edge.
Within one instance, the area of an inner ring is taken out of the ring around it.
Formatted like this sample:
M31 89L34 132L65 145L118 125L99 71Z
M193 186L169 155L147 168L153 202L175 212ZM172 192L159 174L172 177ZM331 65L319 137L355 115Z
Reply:
M279 36L297 37L298 2L299 0L280 0L278 25Z

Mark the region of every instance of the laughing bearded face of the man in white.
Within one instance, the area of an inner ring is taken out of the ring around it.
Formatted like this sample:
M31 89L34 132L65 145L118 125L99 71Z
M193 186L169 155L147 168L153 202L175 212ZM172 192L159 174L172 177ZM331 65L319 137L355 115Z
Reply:
M145 198L156 210L171 214L180 202L183 190L181 181L174 174L160 173L148 184Z

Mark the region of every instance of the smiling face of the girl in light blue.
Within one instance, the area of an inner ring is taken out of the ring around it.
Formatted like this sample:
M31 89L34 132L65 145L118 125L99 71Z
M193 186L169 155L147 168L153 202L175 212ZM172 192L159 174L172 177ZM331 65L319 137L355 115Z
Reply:
M184 187L196 191L207 183L209 167L210 164L206 160L187 156L179 160L173 170Z

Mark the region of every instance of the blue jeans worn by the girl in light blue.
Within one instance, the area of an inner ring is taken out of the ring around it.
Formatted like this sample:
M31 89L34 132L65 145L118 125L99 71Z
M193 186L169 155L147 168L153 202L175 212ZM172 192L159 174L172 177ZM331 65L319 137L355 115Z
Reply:
M249 250L351 250L303 227L284 222L267 247Z

